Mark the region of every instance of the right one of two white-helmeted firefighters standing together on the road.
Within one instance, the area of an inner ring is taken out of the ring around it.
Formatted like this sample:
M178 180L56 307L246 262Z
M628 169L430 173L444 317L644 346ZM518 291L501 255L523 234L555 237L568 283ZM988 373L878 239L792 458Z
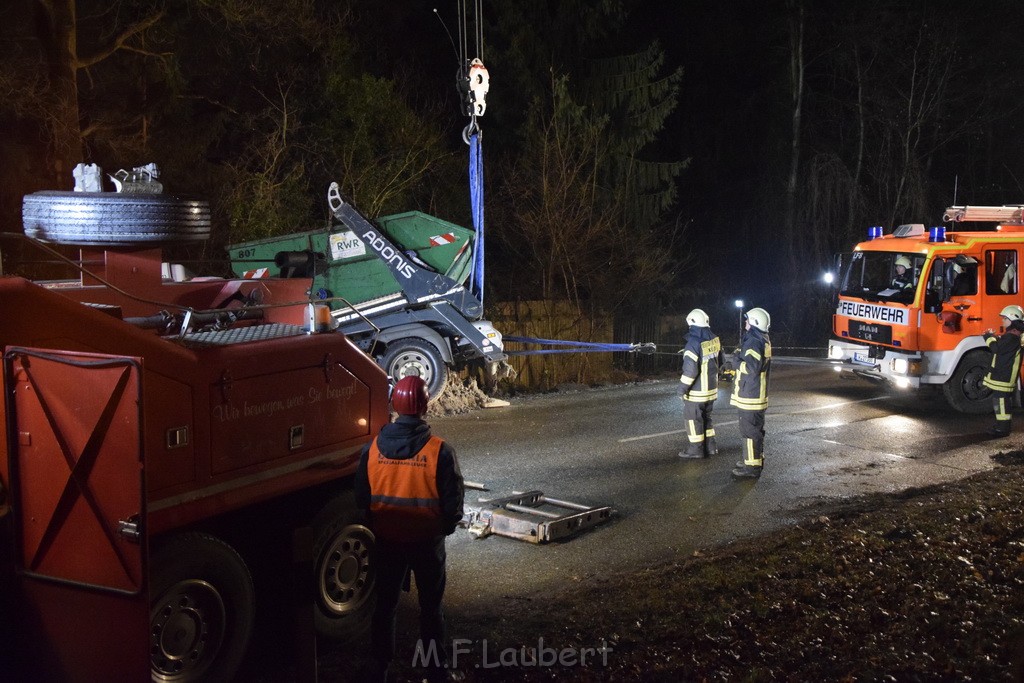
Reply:
M736 407L743 460L732 476L757 478L764 465L765 411L768 409L768 375L771 371L771 317L764 308L752 308L744 317L744 334L736 358L736 379L730 403Z

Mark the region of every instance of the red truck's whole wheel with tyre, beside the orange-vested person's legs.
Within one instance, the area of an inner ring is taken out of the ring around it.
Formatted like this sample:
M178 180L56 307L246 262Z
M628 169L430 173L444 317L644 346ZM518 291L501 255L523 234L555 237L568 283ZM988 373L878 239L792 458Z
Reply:
M355 520L355 498L345 492L313 520L316 632L347 640L364 632L374 607L374 533Z

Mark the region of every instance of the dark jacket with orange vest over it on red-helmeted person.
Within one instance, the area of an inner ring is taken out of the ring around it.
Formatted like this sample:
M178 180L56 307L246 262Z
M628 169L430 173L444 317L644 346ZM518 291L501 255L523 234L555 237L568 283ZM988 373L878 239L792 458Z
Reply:
M385 425L362 449L355 502L386 541L429 541L455 531L463 516L455 450L415 416Z

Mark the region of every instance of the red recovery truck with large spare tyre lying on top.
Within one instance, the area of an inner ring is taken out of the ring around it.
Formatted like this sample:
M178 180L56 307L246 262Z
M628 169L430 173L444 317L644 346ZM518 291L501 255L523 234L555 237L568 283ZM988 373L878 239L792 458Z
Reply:
M303 281L165 278L159 245L204 239L205 203L23 211L8 237L84 246L74 280L0 276L0 680L228 681L261 591L288 588L250 568L301 538L316 628L358 630L373 536L350 478L388 420L381 368L322 333Z

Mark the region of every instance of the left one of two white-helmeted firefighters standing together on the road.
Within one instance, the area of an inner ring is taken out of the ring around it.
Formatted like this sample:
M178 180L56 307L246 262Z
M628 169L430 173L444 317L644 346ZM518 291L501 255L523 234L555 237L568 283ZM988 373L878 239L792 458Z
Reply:
M686 315L689 334L683 348L683 374L679 395L683 398L683 423L689 443L680 458L707 458L718 455L715 426L711 420L718 398L718 367L722 360L722 342L711 331L708 313L694 308Z

